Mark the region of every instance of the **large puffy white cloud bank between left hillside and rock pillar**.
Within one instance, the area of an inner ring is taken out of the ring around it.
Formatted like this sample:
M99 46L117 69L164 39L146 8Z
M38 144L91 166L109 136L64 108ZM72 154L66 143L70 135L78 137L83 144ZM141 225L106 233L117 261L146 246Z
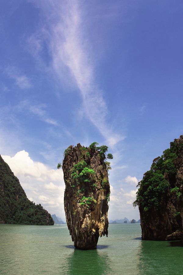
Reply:
M33 161L25 150L15 156L2 156L20 180L27 197L50 213L65 218L63 197L65 183L63 171L52 169L44 163Z

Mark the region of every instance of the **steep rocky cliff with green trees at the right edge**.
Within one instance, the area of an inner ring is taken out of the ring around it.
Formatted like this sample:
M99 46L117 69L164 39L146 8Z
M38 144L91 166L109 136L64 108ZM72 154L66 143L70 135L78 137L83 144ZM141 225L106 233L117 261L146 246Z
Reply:
M178 240L183 232L183 135L153 160L139 182L134 206L139 207L143 240Z

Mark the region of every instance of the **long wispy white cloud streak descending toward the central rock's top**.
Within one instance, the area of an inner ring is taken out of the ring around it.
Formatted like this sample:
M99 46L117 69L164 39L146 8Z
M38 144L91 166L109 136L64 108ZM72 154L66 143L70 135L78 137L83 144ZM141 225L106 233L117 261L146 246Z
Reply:
M49 47L52 57L52 68L60 80L63 76L75 83L83 99L85 115L98 128L109 146L124 139L107 123L108 108L102 92L95 81L95 66L91 58L91 46L84 29L84 13L77 0L61 3L60 1L39 2L47 18L47 31L40 28L40 34L29 39L31 47L41 51L41 39ZM35 45L34 45L35 44ZM35 54L35 51L34 51Z

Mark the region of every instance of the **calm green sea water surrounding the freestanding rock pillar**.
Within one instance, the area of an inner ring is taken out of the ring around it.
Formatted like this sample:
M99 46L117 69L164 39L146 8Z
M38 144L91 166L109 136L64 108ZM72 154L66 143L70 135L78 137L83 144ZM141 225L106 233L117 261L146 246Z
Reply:
M96 250L74 249L66 225L0 224L0 274L183 274L179 241L142 241L140 224L110 224Z

